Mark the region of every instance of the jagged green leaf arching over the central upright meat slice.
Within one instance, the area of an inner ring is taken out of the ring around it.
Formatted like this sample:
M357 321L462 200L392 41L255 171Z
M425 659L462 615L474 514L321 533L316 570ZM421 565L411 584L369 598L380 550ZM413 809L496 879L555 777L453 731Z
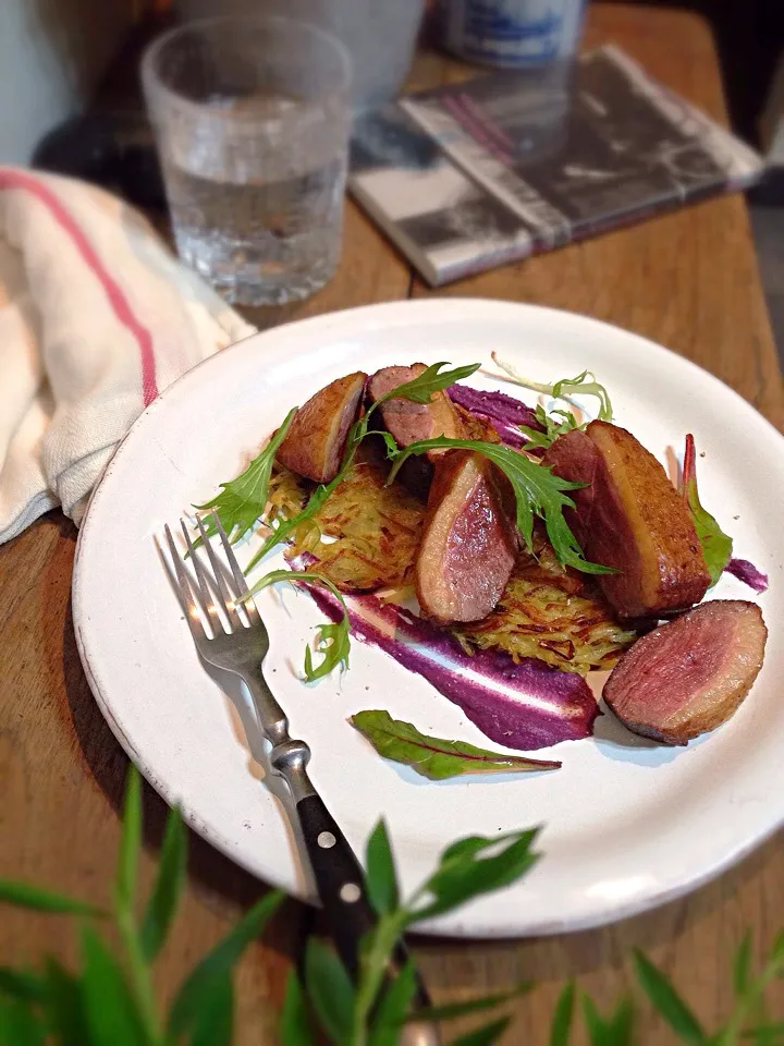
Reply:
M512 484L517 502L517 528L529 549L531 548L534 515L536 514L544 521L550 544L560 563L574 567L586 574L609 574L613 572L611 567L591 563L584 557L577 538L564 519L564 508L574 508L574 501L564 491L576 490L584 484L562 479L546 465L531 461L530 458L526 458L525 454L513 450L511 447L502 443L487 443L479 439L448 439L445 436L439 436L437 439L422 439L409 443L393 455L394 464L388 483L394 479L401 466L413 454L424 454L428 450L445 448L474 450L489 458L493 464L501 469Z

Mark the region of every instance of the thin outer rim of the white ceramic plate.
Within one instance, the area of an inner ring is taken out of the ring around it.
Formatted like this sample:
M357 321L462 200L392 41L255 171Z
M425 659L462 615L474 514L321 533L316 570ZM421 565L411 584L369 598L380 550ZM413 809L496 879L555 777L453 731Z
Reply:
M242 346L246 345L248 341L253 340L254 342L261 342L267 339L274 340L274 338L284 330L291 329L301 329L303 327L313 327L324 329L324 333L329 337L330 328L340 328L344 324L356 325L360 328L360 332L365 333L372 327L379 326L380 323L384 320L384 314L394 314L394 318L397 317L401 313L416 312L427 316L428 313L433 314L433 320L438 323L438 314L442 313L444 306L451 306L454 309L466 308L468 311L476 311L478 313L497 313L501 317L502 313L509 315L516 314L518 316L524 313L535 313L540 316L551 315L555 321L563 321L566 318L567 323L578 321L580 325L590 325L599 330L612 331L614 336L617 332L623 333L626 338L633 339L637 342L640 349L646 351L653 352L654 354L664 353L671 362L675 362L676 366L681 366L685 373L690 372L694 376L699 376L701 381L708 379L709 385L714 387L721 387L723 394L731 393L735 399L736 404L739 409L746 414L747 417L754 417L756 424L762 423L763 426L772 434L773 438L782 440L784 443L784 435L773 425L763 414L761 414L757 408L755 408L748 400L746 400L739 392L732 388L732 386L726 385L720 378L718 378L711 372L705 369L699 364L687 358L686 356L681 355L679 353L674 352L671 349L667 349L665 345L662 345L659 342L652 341L651 339L638 335L635 331L630 331L624 327L621 327L616 324L611 324L602 319L598 319L593 316L588 316L583 313L573 312L569 309L554 308L546 305L538 305L527 302L511 302L505 300L494 300L494 299L481 299L481 297L427 297L427 299L399 299L389 302L375 303L370 305L360 305L346 309L339 309L330 313L319 314L316 316L308 316L303 319L291 320L285 324L280 324L274 327L266 328L265 330L256 331L255 333L248 335L247 337L241 339L237 342L226 346L225 349L220 350L219 352L213 353L207 358L200 361L198 364L193 366L189 370L182 374L179 378L172 381L157 398L152 401L135 419L128 431L125 434L123 439L118 443L118 447L112 454L111 459L105 466L101 475L99 476L94 490L90 495L85 514L79 526L76 548L74 552L74 563L73 563L73 574L72 574L72 620L74 627L74 635L76 640L76 646L79 654L79 659L87 678L90 691L95 697L96 704L98 705L101 715L106 719L108 726L110 727L112 733L114 734L117 741L121 747L125 751L127 756L138 768L143 777L148 781L148 783L158 792L159 795L167 802L169 806L172 806L173 803L177 800L175 795L175 789L172 788L169 782L164 779L161 779L156 774L152 773L152 769L149 765L146 764L145 759L140 753L134 747L131 739L124 733L120 723L114 718L114 715L111 710L111 705L108 700L107 694L103 693L101 683L94 671L94 668L90 664L90 653L88 650L87 643L85 641L85 630L84 623L85 619L83 616L83 571L84 571L84 549L88 540L88 534L90 533L90 523L94 518L93 509L94 506L99 501L101 496L101 490L106 484L106 481L111 476L114 466L117 465L118 460L121 459L122 453L127 448L128 441L136 438L136 434L147 424L148 418L159 412L160 410L166 410L167 403L173 396L180 394L183 387L192 380L195 380L194 376L197 373L203 372L203 368L209 366L222 365L217 361L223 360L228 354L231 354L236 351L242 351ZM364 320L367 316L372 316L373 319L378 319L379 324L365 324ZM385 326L390 326L389 323ZM404 323L401 323L401 326L405 326ZM258 878L260 883L271 887L279 887L284 889L286 892L291 893L293 897L298 899L313 902L311 899L302 890L292 888L292 884L285 883L282 879L277 879L274 875L267 875L261 877L256 869L249 866L248 863L242 860L235 852L233 852L233 846L231 841L221 836L220 832L216 831L212 827L206 825L196 813L195 810L181 805L181 811L184 820L192 827L198 835L205 838L211 846L216 847L224 856L229 858L232 862L243 867L255 878ZM584 917L575 917L571 915L566 920L559 921L558 923L541 923L536 924L531 920L527 921L527 925L530 925L530 928L520 931L519 927L511 926L503 927L499 926L498 923L483 923L477 921L475 917L470 917L466 924L460 917L460 911L450 917L449 924L443 924L441 921L436 921L432 925L428 923L422 923L417 925L415 933L426 936L436 935L442 937L452 937L461 939L479 939L479 938L495 938L495 939L512 939L527 936L539 936L539 935L552 935L561 933L572 933L579 932L583 929L595 928L611 923L615 923L620 920L629 917L641 912L650 911L654 908L658 908L662 904L665 904L670 901L676 900L679 897L684 897L687 893L690 893L699 889L705 884L711 881L718 876L725 873L727 869L732 868L740 861L744 860L749 853L756 850L758 847L762 846L768 839L770 839L781 827L784 826L784 807L779 814L779 818L775 823L771 823L767 829L762 832L758 832L756 836L746 840L744 844L736 847L725 854L722 861L712 863L707 869L703 869L700 874L690 876L684 883L677 884L677 886L666 886L663 887L656 893L650 893L644 898L633 898L630 900L624 900L620 902L614 902L612 905L605 905L601 909L596 909L587 913Z

